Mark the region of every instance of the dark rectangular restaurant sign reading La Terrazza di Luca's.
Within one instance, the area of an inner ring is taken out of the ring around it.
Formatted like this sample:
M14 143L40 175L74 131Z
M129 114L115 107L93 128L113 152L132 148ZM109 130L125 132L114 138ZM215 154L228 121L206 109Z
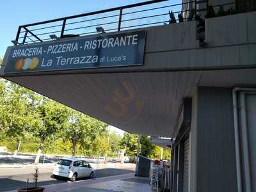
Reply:
M143 65L145 35L145 31L105 33L8 47L4 75Z

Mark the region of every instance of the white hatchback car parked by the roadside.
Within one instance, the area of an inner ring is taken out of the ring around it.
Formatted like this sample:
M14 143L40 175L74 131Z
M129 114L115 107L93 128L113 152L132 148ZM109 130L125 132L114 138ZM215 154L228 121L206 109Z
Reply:
M71 181L83 177L90 177L90 179L92 179L94 170L92 166L83 159L65 158L60 159L58 163L54 165L52 175L54 178L67 177Z

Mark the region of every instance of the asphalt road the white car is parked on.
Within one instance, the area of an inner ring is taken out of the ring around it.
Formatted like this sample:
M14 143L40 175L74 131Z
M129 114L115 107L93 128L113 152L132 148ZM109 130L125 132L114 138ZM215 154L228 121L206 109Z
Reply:
M121 175L125 173L134 173L134 164L106 164L92 165L95 168L95 177L107 177L111 175ZM33 185L31 173L35 168L1 168L0 169L0 191L10 191L18 188L26 188L26 181L29 179L29 185ZM38 186L58 184L69 182L67 179L56 180L51 178L52 166L41 166L39 168L40 176Z

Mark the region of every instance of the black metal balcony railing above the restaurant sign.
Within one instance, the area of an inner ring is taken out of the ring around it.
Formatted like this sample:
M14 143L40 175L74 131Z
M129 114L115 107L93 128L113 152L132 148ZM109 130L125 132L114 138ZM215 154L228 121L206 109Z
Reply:
M194 20L195 14L191 17L191 14L184 13L206 11L208 6L208 0L194 0L177 4L171 2L171 0L146 1L26 24L19 26L15 42L16 44L44 42L52 40L52 37L49 38L50 35L54 35L58 39L69 36L91 35L97 33L96 28L99 26L104 29L104 32L113 32ZM206 6L204 9L198 10L197 7L200 3L204 3ZM187 8L184 9L184 6ZM172 12L170 12L171 10Z

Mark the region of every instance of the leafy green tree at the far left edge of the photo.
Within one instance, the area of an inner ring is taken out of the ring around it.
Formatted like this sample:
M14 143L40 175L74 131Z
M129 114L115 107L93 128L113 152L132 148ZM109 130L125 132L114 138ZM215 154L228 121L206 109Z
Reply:
M1 136L8 136L17 140L15 153L17 154L22 138L26 130L35 125L35 115L30 110L31 97L33 92L11 83L4 79L0 80L0 132Z

